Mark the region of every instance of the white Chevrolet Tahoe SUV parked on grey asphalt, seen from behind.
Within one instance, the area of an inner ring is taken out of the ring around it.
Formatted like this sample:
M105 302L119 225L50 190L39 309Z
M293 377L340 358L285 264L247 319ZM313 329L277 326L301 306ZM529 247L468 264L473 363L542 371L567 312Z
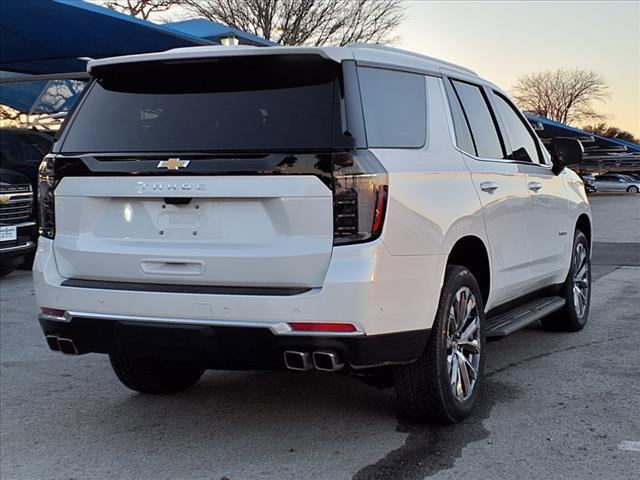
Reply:
M498 87L390 48L91 61L40 167L40 323L145 393L204 369L342 371L455 422L485 341L581 329L591 218Z

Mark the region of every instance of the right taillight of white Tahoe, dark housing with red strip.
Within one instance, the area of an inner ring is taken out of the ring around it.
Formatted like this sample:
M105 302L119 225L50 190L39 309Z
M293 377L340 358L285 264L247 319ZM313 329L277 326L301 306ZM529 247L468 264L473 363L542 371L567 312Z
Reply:
M333 244L375 240L382 233L389 177L368 150L333 155Z

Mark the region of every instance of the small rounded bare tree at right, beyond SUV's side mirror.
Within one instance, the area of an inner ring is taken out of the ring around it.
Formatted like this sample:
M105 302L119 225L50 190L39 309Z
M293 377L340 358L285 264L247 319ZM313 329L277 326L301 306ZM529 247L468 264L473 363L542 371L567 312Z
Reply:
M607 81L598 72L558 68L520 77L512 89L523 110L561 123L603 119L594 103L608 97Z

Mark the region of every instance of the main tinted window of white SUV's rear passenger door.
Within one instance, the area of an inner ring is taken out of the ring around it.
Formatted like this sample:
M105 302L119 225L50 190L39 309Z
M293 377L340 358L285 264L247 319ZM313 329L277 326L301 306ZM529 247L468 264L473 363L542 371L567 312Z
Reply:
M503 158L500 138L481 88L455 80L453 85L469 121L477 155L482 158Z

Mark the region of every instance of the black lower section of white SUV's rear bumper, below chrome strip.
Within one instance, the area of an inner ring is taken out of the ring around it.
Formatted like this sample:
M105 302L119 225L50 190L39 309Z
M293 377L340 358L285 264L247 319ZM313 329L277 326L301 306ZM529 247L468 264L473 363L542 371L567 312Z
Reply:
M78 354L162 356L223 370L282 369L287 350L331 351L352 370L408 363L422 353L429 336L429 330L372 336L291 336L274 334L265 327L149 322L106 316L63 319L40 315L39 320L46 336L72 340Z

